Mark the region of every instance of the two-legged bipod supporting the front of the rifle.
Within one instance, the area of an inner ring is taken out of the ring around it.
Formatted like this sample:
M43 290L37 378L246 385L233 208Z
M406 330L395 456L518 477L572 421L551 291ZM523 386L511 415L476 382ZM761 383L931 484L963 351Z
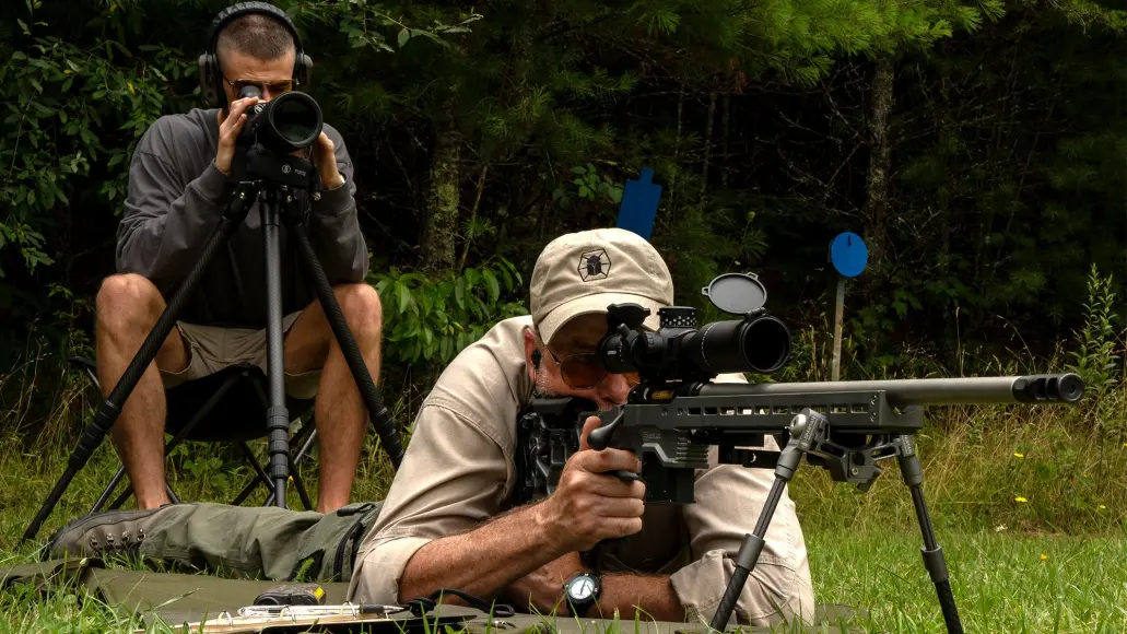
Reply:
M959 613L955 607L955 595L951 592L947 561L943 559L943 550L935 542L935 529L931 524L928 504L923 499L923 467L920 464L920 457L916 456L912 436L889 434L875 437L862 447L845 447L832 438L829 419L809 408L804 409L791 422L790 438L787 446L778 455L775 480L771 484L771 491L763 504L763 512L760 514L752 533L744 536L744 542L736 554L736 569L733 571L731 579L728 580L728 586L725 588L724 597L720 598L716 613L712 615L712 622L709 624L710 629L722 632L727 627L728 619L744 590L744 583L747 581L748 574L755 570L755 563L760 559L760 553L763 552L763 538L771 524L771 516L774 515L775 507L779 504L779 499L782 498L782 490L798 470L804 454L810 456L809 462L813 464L820 464L829 470L834 480L857 482L861 490L868 490L877 475L880 474L880 467L875 464L877 461L896 456L904 483L912 492L916 520L920 523L920 532L923 534L924 547L921 550L923 563L935 584L943 622L947 624L949 633L961 634L962 623L959 620Z

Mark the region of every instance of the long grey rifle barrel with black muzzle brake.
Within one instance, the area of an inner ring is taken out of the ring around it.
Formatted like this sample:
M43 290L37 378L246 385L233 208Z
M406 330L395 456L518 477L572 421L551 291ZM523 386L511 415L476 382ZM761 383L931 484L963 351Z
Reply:
M888 403L951 405L979 403L1075 403L1084 382L1075 374L983 376L974 378L896 378L887 381L832 381L815 383L709 383L701 395L810 394L882 390Z

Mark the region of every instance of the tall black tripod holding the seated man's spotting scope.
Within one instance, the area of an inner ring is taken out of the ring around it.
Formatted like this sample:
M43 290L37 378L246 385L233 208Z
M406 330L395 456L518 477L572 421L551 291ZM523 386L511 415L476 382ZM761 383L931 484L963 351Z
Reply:
M240 161L240 158L245 158L246 162ZM256 199L263 203L259 208L263 214L263 239L266 251L266 358L269 381L269 408L266 411L266 420L269 429L269 479L274 482L272 495L274 504L285 508L285 486L290 476L290 416L285 403L285 360L282 339L279 229L283 222L290 234L296 238L301 262L305 270L311 274L313 291L321 303L326 318L328 318L332 334L344 352L353 378L360 386L364 404L367 407L369 418L372 426L375 427L380 443L391 457L391 464L396 468L399 467L403 456L399 434L391 420L391 413L380 400L375 382L372 381L372 375L364 364L356 340L345 322L340 304L337 303L329 279L325 275L325 269L321 268L321 264L317 259L299 200L294 197L294 191L298 189L312 189L317 171L307 159L277 155L260 145L252 146L243 157L237 155L236 164L245 170L246 178L239 178L239 184L231 195L223 217L207 239L195 266L192 267L184 283L168 302L165 312L161 313L157 324L141 343L141 348L133 356L117 385L98 407L94 420L82 431L78 446L74 447L66 462L65 471L55 483L51 494L47 495L35 519L32 520L30 526L27 527L20 543L35 537L39 527L59 503L59 499L62 498L71 480L86 466L95 449L101 444L109 428L121 414L122 405L125 404L149 364L157 356L161 343L171 332L179 313L188 297L195 292L212 258L242 224Z

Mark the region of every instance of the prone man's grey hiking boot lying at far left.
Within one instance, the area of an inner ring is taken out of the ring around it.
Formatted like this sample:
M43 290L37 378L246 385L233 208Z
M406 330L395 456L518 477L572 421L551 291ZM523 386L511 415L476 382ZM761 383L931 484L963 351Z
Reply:
M171 504L148 510L115 510L71 521L47 541L52 557L136 555L153 517Z

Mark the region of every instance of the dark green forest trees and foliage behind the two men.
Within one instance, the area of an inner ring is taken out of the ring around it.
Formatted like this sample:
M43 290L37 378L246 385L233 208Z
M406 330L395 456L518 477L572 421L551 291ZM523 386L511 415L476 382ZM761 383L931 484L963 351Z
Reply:
M160 115L201 106L195 57L227 2L10 5L7 363L28 337L86 345L130 152ZM681 303L707 309L711 276L753 270L795 330L824 332L829 239L879 232L885 255L850 286L846 376L964 367L1017 334L1045 351L1091 319L1091 267L1121 269L1127 18L1100 2L278 5L358 168L392 368L434 368L520 313L543 244L613 225L644 167ZM1108 293L1127 296L1125 278Z

